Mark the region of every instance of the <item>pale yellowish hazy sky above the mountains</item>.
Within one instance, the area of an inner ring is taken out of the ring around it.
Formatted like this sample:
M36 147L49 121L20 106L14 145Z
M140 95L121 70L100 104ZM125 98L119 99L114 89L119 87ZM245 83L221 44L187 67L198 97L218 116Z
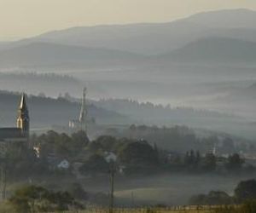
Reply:
M0 0L0 40L70 26L166 22L236 8L256 9L256 0Z

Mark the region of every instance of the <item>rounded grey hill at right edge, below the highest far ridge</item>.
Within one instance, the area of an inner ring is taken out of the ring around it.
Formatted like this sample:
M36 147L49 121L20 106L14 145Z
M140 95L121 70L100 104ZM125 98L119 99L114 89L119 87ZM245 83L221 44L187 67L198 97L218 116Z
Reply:
M181 49L161 55L161 60L180 62L255 63L256 43L235 38L207 37L185 45Z

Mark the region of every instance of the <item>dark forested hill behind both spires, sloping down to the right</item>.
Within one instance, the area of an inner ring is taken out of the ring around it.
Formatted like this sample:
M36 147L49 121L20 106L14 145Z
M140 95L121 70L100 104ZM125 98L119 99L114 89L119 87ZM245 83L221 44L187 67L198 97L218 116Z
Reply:
M15 126L20 94L0 91L0 126ZM51 125L67 125L69 120L79 117L80 104L64 98L48 98L28 95L28 107L32 128L46 128ZM128 118L92 104L88 106L90 118L97 124L124 124Z

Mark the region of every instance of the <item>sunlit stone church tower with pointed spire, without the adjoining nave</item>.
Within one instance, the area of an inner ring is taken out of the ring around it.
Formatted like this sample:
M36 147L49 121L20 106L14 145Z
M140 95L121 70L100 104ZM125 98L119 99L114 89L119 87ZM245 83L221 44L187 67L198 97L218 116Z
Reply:
M29 136L29 114L26 106L26 95L21 95L20 106L18 109L17 128L19 128L23 135Z

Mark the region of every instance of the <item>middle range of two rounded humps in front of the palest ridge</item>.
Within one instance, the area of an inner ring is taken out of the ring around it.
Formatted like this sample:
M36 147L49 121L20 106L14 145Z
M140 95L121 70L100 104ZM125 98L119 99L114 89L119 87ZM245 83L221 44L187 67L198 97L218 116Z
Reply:
M154 63L255 64L256 43L230 37L207 37L166 54L145 56L114 49L56 43L29 43L0 51L0 67L88 68Z

